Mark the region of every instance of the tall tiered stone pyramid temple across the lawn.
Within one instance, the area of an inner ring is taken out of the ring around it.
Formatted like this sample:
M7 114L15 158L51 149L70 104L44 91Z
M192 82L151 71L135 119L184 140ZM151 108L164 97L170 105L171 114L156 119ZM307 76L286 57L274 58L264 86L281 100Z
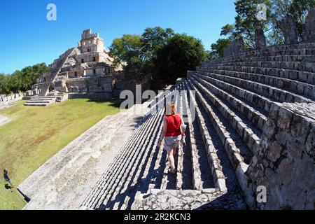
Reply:
M45 106L67 97L99 95L111 98L114 78L111 74L123 70L122 66L113 68L113 59L104 48L104 40L91 29L83 31L76 48L66 50L50 64L48 72L38 78L32 90L39 92L28 106Z

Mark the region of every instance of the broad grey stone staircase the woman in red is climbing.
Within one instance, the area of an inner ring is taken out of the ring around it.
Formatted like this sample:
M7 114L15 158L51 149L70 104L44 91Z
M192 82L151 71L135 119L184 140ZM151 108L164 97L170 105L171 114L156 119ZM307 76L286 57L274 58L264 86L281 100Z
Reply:
M188 119L187 146L176 154L179 172L169 174L166 152L157 148L164 99L80 209L246 209L245 173L258 155L269 111L284 102L314 104L314 55L315 43L279 45L188 71L165 96L174 95Z

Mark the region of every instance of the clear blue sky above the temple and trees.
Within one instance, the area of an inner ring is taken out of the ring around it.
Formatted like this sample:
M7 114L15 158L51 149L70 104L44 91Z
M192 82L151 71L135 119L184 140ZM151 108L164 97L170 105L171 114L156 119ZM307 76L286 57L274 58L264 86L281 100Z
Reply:
M46 20L48 3L56 4L57 21ZM87 28L104 38L106 48L123 34L160 26L200 38L210 49L235 15L234 0L0 1L0 72L51 64Z

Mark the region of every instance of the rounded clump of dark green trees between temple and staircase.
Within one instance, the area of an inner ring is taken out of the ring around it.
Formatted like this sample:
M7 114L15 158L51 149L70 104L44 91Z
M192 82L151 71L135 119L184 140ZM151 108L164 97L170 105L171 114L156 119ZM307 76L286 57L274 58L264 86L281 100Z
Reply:
M150 73L165 83L174 83L207 59L200 40L161 27L148 27L141 36L125 34L113 41L110 50L114 64L125 63L127 71Z

